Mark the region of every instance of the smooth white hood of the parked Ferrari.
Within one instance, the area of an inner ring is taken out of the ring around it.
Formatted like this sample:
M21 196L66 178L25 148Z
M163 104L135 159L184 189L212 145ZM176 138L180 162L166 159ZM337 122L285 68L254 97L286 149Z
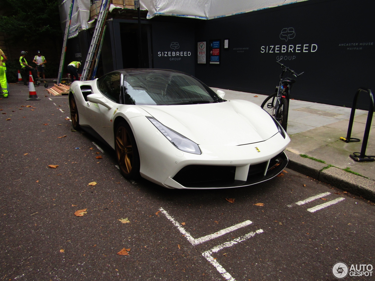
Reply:
M246 100L139 107L200 145L244 145L265 141L278 133L270 115Z

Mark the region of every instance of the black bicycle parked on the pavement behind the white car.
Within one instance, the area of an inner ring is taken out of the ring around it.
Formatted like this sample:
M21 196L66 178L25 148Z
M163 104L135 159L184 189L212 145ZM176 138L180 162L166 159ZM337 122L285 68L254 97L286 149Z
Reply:
M269 95L262 103L261 108L272 115L287 131L288 125L288 111L289 111L289 99L290 99L290 89L296 80L286 77L288 73L298 77L304 72L297 74L294 70L280 63L281 60L276 61L276 63L281 65L281 74L279 79L279 85L276 86L275 93ZM285 77L284 77L285 76ZM269 100L272 99L272 102Z

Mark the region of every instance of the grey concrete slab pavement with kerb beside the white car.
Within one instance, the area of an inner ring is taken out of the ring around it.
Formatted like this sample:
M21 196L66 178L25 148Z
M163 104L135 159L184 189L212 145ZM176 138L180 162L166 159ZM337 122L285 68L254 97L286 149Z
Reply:
M225 99L249 100L257 105L267 97L212 89L225 91ZM287 167L375 202L375 161L356 162L349 157L361 151L368 111L355 112L351 138L361 141L346 143L340 137L347 136L350 112L351 108L290 100L287 133L291 142L287 147L290 160ZM375 117L366 155L375 157Z

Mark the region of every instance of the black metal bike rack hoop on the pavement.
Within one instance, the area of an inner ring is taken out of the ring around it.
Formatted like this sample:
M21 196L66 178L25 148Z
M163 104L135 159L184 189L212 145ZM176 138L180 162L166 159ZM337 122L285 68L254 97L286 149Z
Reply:
M359 142L360 139L351 138L351 131L353 128L353 122L354 122L354 113L356 112L356 106L357 106L357 100L358 96L361 92L366 92L369 94L370 97L370 106L369 106L369 112L367 115L366 120L366 127L365 127L365 133L363 134L363 142L362 142L362 148L361 152L353 152L353 154L350 155L350 158L352 158L354 161L360 162L360 161L375 161L374 155L366 155L366 148L367 148L367 142L369 139L370 134L370 127L371 127L371 121L372 121L372 115L374 114L374 94L370 89L366 88L359 88L356 92L356 95L354 96L352 109L350 112L350 118L349 118L349 125L348 125L348 133L346 138L340 138L344 142Z

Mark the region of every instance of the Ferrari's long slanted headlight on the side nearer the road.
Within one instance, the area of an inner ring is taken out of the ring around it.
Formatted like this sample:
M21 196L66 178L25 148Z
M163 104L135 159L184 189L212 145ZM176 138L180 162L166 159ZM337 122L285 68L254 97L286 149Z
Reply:
M162 133L168 139L168 141L170 141L181 151L194 154L202 154L201 149L199 149L199 146L195 142L175 132L174 130L169 129L168 127L157 121L155 118L150 116L146 117L151 121L152 124L154 124L154 126L160 131L160 133Z

